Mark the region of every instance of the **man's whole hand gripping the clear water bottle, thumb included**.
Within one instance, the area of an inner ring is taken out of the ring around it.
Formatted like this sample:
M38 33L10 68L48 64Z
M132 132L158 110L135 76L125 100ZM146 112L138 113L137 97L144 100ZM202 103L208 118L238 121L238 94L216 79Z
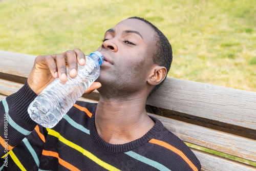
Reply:
M34 66L28 77L29 87L38 95L44 90L55 78L61 81L67 81L67 70L69 75L74 78L77 76L77 62L80 66L86 64L84 53L75 48L61 54L40 55L35 58ZM93 90L101 87L99 82L94 82L85 92L90 94Z

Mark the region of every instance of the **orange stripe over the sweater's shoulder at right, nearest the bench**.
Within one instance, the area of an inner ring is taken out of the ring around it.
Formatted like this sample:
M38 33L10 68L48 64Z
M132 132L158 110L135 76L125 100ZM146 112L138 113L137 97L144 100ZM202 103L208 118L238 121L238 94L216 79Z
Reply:
M156 139L151 139L150 140L151 143L157 144L157 145L161 145L167 149L169 149L170 151L173 151L174 153L178 154L180 157L183 158L183 160L185 160L185 162L187 162L187 164L194 170L194 171L198 171L198 168L184 155L184 153L182 153L179 149L175 148L174 146L160 141L160 140L156 140Z

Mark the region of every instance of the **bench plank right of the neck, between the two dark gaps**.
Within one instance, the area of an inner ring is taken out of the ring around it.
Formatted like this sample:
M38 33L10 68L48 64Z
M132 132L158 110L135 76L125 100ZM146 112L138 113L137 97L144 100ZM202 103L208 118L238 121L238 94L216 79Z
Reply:
M256 162L256 140L244 138L207 127L149 114L181 140Z

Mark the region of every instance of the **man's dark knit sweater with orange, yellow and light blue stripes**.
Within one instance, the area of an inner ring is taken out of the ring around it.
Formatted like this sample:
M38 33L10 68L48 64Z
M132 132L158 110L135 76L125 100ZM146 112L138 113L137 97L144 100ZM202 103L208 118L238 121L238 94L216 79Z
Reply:
M0 102L0 170L201 170L190 149L163 124L125 144L97 134L97 103L77 101L52 129L27 113L36 94L25 86Z

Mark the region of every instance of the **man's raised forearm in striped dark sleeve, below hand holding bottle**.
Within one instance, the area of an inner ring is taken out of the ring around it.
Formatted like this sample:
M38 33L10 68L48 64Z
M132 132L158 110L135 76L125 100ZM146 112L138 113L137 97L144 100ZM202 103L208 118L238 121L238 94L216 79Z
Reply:
M36 96L26 83L18 92L0 102L0 157L29 135L36 126L27 113L30 102Z

